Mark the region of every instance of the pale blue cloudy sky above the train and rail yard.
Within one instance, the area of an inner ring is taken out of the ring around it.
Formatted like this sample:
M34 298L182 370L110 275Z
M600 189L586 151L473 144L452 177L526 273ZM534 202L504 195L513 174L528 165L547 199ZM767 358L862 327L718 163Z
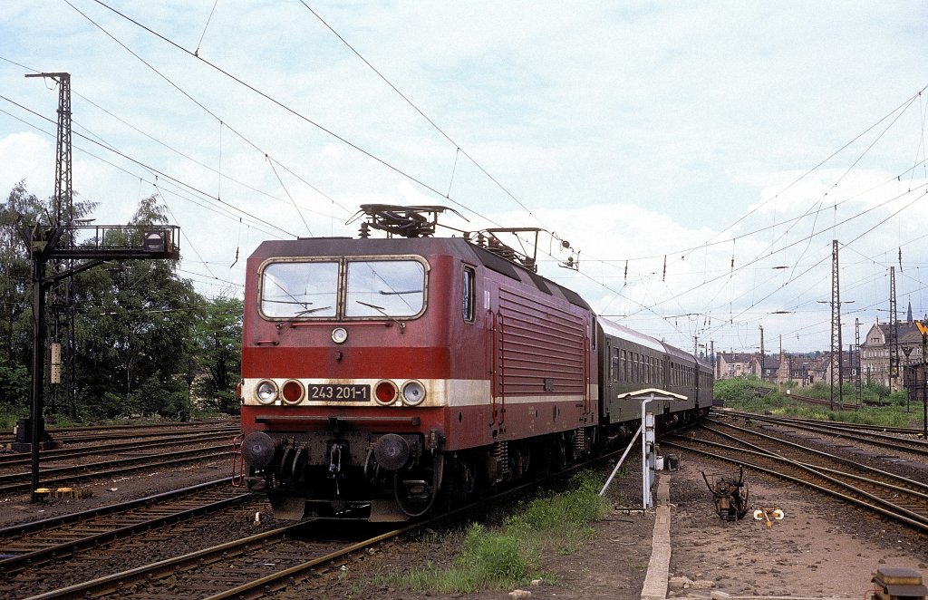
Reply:
M52 195L58 89L24 75L69 72L78 199L157 194L209 297L261 241L440 204L699 352L828 351L836 240L846 349L890 267L928 313L926 50L921 0L6 0L0 193Z

